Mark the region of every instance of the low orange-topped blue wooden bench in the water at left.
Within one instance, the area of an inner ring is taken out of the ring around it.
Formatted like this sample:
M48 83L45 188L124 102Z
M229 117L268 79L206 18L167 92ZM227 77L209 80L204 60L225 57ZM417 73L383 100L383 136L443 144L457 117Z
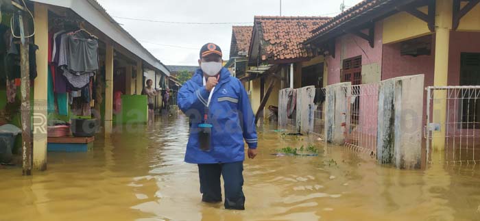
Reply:
M49 152L87 152L93 145L95 137L60 137L47 138L47 151Z

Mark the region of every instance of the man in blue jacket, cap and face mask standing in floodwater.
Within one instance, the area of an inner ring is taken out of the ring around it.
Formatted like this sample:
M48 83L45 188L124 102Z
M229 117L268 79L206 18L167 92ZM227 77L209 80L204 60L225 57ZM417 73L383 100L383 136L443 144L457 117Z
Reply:
M225 209L245 209L243 140L250 159L256 156L258 141L248 94L239 79L222 68L217 44L202 47L198 64L201 68L178 92L178 106L191 121L185 161L198 165L203 202L221 202L221 175Z

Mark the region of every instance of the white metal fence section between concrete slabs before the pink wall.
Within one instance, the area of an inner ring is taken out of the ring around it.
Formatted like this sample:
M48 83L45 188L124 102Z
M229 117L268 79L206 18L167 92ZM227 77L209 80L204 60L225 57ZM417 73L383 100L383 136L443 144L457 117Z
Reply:
M376 153L379 110L379 84L346 86L345 146L370 154Z

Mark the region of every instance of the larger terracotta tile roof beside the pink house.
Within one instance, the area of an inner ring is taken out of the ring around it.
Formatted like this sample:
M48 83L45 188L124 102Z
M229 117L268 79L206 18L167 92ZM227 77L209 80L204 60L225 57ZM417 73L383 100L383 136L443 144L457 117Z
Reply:
M312 55L311 49L302 43L312 36L313 29L329 19L319 16L255 16L255 28L262 38L261 50L267 55L262 56L262 60L272 57L274 60L295 59Z

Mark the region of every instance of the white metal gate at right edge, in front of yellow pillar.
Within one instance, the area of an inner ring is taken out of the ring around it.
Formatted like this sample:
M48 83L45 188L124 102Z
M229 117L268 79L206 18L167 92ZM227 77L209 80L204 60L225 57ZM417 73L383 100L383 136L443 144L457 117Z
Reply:
M480 162L480 86L427 88L427 161ZM440 150L440 151L433 151Z

